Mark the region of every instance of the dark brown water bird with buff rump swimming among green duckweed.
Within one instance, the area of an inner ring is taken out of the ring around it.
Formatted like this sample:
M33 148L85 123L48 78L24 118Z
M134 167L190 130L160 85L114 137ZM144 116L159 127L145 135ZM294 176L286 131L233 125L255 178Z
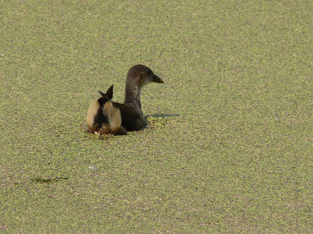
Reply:
M124 102L113 98L113 85L102 93L99 99L90 104L87 114L88 132L98 135L126 135L130 131L139 131L147 126L140 103L143 86L150 83L164 84L163 80L142 64L132 66L126 75Z

